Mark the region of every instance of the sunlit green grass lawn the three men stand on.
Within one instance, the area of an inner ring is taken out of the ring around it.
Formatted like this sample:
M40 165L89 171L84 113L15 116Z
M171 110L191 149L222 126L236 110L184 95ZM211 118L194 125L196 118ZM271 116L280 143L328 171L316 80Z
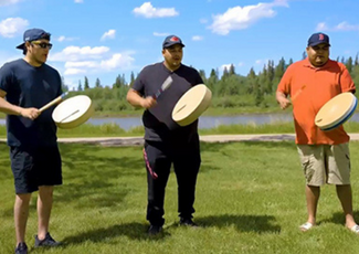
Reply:
M31 253L355 254L359 236L345 229L334 187L323 188L318 226L306 221L304 177L293 142L202 144L196 222L178 226L177 184L166 193L165 233L146 234L146 172L141 147L60 145L64 184L56 188L50 232L65 245ZM350 144L355 216L359 221L359 142ZM13 253L13 183L8 148L0 145L0 253ZM32 199L27 242L36 232Z

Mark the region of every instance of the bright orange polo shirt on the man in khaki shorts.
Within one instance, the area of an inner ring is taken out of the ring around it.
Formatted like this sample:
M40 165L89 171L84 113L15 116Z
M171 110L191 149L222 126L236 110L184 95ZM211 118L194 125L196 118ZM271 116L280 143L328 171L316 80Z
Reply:
M340 93L355 93L355 91L352 78L342 63L329 60L324 66L314 67L306 59L289 65L278 84L277 92L291 97L299 93L293 102L296 144L348 142L349 136L342 125L332 130L323 131L315 125L315 117L329 99Z

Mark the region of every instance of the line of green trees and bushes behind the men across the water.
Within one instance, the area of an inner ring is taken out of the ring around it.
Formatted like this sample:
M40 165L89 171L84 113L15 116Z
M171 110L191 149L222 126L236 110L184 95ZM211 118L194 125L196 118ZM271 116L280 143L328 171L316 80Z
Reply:
M305 52L303 59L306 57ZM355 84L359 86L359 56L337 57L348 68ZM260 72L255 72L252 67L249 74L236 74L233 64L224 67L222 73L218 68L212 68L209 75L203 70L199 73L204 84L212 91L212 107L235 108L235 107L272 107L277 106L274 94L286 68L293 63L293 60L285 61L282 57L276 64L270 60ZM119 112L125 109L134 109L126 102L126 94L133 85L136 76L131 72L127 82L125 75L118 75L114 83L104 86L99 78L96 78L93 87L89 86L88 78L78 81L78 86L74 95L85 94L89 96L97 112ZM63 89L68 87L63 83Z

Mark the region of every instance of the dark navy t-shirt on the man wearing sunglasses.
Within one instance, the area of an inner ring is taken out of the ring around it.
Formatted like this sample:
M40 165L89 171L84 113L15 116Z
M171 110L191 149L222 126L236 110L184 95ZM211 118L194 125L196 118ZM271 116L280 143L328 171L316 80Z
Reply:
M7 100L20 107L41 108L62 94L61 76L53 67L30 65L24 60L6 63L0 68L0 89ZM44 110L36 119L8 115L8 145L13 147L56 146L56 125L52 119L55 106Z

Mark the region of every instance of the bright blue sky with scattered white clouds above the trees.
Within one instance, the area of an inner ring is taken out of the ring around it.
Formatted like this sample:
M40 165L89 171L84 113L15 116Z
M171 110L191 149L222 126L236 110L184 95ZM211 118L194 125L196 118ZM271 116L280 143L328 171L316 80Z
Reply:
M0 0L0 66L22 57L23 32L52 34L47 63L77 87L84 76L112 85L162 61L161 43L176 34L186 44L183 63L239 74L302 59L314 32L330 36L331 59L359 52L358 0Z

